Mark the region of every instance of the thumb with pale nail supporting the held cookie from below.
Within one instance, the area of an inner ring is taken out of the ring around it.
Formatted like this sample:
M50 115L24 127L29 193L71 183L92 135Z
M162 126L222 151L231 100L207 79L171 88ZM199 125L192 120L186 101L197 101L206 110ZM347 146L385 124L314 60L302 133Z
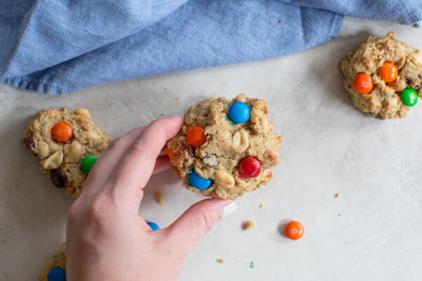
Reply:
M220 218L237 209L235 202L222 199L206 199L193 204L167 228L167 239L178 244L190 254L202 238Z

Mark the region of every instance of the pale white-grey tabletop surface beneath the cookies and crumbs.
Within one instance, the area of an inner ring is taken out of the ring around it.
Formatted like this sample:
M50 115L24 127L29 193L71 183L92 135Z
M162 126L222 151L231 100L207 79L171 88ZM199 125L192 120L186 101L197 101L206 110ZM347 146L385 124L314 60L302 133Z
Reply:
M161 113L184 114L209 96L244 92L269 103L274 131L283 135L281 163L268 185L238 199L236 212L200 242L180 280L420 280L422 101L405 119L366 117L352 107L338 67L359 41L389 30L422 48L420 29L346 18L338 39L264 62L123 81L68 96L0 85L0 279L37 280L65 240L73 200L51 185L38 159L19 143L35 112L87 107L115 138ZM163 207L153 200L156 191L164 195ZM335 198L336 192L342 196ZM201 199L167 171L148 183L141 214L165 227ZM304 223L301 240L279 233L290 219ZM242 230L245 220L255 228Z

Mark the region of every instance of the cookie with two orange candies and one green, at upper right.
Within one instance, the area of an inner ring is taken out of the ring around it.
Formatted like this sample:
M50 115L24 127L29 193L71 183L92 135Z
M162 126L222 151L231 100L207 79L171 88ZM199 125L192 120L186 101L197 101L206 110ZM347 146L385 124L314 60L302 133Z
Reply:
M395 39L370 36L340 61L355 107L378 119L406 117L422 98L422 54Z

